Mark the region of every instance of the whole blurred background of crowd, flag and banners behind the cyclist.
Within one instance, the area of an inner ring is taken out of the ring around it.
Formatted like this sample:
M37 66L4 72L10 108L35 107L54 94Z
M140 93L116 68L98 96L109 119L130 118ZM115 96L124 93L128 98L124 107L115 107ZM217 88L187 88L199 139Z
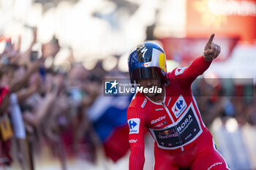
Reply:
M128 169L132 96L103 78L128 78L146 40L188 66L212 33L222 52L192 90L231 169L256 169L255 0L0 0L0 16L0 169Z

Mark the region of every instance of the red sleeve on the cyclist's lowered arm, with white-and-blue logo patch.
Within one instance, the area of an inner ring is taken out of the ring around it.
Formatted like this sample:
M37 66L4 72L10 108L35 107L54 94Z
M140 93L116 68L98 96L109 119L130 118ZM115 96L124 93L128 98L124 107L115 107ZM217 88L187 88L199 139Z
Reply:
M144 156L144 127L145 115L139 108L129 107L127 110L129 125L129 170L143 170Z

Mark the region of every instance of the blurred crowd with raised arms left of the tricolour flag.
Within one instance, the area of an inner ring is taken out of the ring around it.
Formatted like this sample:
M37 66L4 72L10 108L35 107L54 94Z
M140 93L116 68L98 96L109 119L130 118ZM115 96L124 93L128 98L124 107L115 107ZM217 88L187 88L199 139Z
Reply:
M0 167L11 165L13 144L21 169L34 169L33 158L40 154L42 145L50 147L62 169L67 169L67 153L75 155L79 144L87 142L84 150L90 154L86 159L94 162L91 152L94 153L97 139L84 110L101 93L99 77L104 70L98 66L89 72L81 63L73 63L69 72L61 72L53 65L45 67L45 60L54 60L60 50L58 39L53 37L42 45L41 51L34 51L35 28L33 42L21 53L21 38L16 43L10 38L2 39L6 47L0 57ZM29 157L30 167L25 165L25 157Z

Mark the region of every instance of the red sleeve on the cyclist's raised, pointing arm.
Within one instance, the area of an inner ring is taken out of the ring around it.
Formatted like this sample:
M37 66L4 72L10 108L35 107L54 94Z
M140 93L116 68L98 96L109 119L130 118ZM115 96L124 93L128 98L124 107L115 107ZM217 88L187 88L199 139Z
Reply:
M178 83L184 90L189 90L192 82L203 74L210 65L211 62L205 61L203 56L200 56L195 58L188 67L181 66L173 69L173 71L168 74L168 78Z

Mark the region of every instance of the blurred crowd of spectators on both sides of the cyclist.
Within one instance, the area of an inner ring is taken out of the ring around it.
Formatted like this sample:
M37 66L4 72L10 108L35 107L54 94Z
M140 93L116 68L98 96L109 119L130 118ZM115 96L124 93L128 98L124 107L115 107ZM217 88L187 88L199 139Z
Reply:
M34 51L35 28L33 42L21 53L21 38L15 43L10 38L1 39L6 47L0 55L0 167L10 166L17 156L21 169L34 169L34 155L41 154L42 146L59 158L61 169L67 169L67 157L80 156L95 163L102 143L87 112L93 105L93 109L99 107L95 101L102 98L103 77L127 74L116 68L106 72L101 61L90 71L81 63L72 63L68 72L45 66L45 60L54 60L59 53L58 39L53 37L40 51ZM251 86L248 95L246 85L233 84L232 94L225 96L221 82L216 85L200 79L193 91L206 126L217 117L224 122L235 117L241 126L255 125L256 91ZM14 148L15 154L11 154Z

